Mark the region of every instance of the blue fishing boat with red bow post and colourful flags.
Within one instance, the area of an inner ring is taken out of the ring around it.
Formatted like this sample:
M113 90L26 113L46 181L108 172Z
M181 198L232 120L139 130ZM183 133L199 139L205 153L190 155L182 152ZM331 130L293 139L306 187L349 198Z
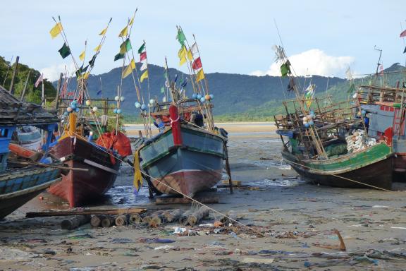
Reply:
M143 109L144 119L152 118L159 128L157 135L147 138L137 147L135 183L144 176L150 191L193 197L221 180L223 162L227 158L227 133L214 126L211 112L214 96L209 94L197 44L187 49L180 27L178 40L181 45L178 53L180 62L186 62L186 55L189 59L187 65L190 65L190 82L194 92L192 97L187 97L185 80L176 85L177 76L171 80L168 68L165 68L168 97L164 97L164 102L150 100L148 112L144 104L135 104ZM143 52L139 52L142 55Z

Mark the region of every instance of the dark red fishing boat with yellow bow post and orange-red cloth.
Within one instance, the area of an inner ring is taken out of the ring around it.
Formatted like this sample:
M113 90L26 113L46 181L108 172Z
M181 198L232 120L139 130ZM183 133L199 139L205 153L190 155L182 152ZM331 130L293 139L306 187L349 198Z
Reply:
M109 24L110 22L111 20ZM59 24L61 24L60 21L56 27L59 27ZM120 100L121 97L117 97L116 100L108 101L92 100L87 91L87 78L105 40L109 24L103 30L97 52L90 59L89 65L83 68L83 64L80 66L73 59L75 66L78 67L75 73L77 84L72 92L73 95L68 98L64 96L61 99L59 89L59 95L56 97L56 109L61 110L63 128L60 129L60 137L51 146L49 152L70 167L88 170L86 174L70 171L63 176L61 182L55 183L48 189L49 193L68 200L70 207L80 207L90 203L109 191L119 174L121 162L132 154L130 140L119 131L118 119L121 110L117 112L117 109L120 108L120 102L123 102L123 99ZM56 35L63 32L63 28L56 29ZM68 44L66 35L61 37L65 44ZM68 55L70 51L66 53L66 56ZM67 90L62 92L66 94ZM114 109L116 116L109 115L109 101L117 103L117 108ZM99 109L104 109L104 112L99 114ZM109 121L113 121L116 128L109 130L107 128Z

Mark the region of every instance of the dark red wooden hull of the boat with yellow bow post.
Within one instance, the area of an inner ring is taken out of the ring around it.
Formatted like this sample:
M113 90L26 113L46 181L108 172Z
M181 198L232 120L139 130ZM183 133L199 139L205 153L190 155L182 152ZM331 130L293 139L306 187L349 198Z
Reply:
M48 189L49 193L68 200L70 207L80 207L109 191L121 166L120 160L101 147L78 138L63 138L51 147L50 153L69 167L88 169L70 171Z

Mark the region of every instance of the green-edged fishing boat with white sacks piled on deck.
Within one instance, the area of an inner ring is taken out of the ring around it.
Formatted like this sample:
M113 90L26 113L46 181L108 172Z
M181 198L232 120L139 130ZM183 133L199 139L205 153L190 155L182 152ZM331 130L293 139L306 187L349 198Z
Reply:
M288 90L295 99L284 101L286 114L274 116L283 142L282 156L310 183L346 188L392 186L393 148L390 138L376 140L367 135L362 109L357 102L329 102L302 92L290 71L282 47L276 47ZM313 91L313 90L312 90ZM314 94L314 91L313 91Z

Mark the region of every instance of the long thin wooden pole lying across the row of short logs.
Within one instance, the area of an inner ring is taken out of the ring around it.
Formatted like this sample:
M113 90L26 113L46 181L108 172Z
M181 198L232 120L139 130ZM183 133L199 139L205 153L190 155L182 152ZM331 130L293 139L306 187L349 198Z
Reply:
M145 212L144 208L122 208L122 209L85 209L85 210L59 210L44 212L27 212L25 217L66 217L68 215L123 215L139 214Z

